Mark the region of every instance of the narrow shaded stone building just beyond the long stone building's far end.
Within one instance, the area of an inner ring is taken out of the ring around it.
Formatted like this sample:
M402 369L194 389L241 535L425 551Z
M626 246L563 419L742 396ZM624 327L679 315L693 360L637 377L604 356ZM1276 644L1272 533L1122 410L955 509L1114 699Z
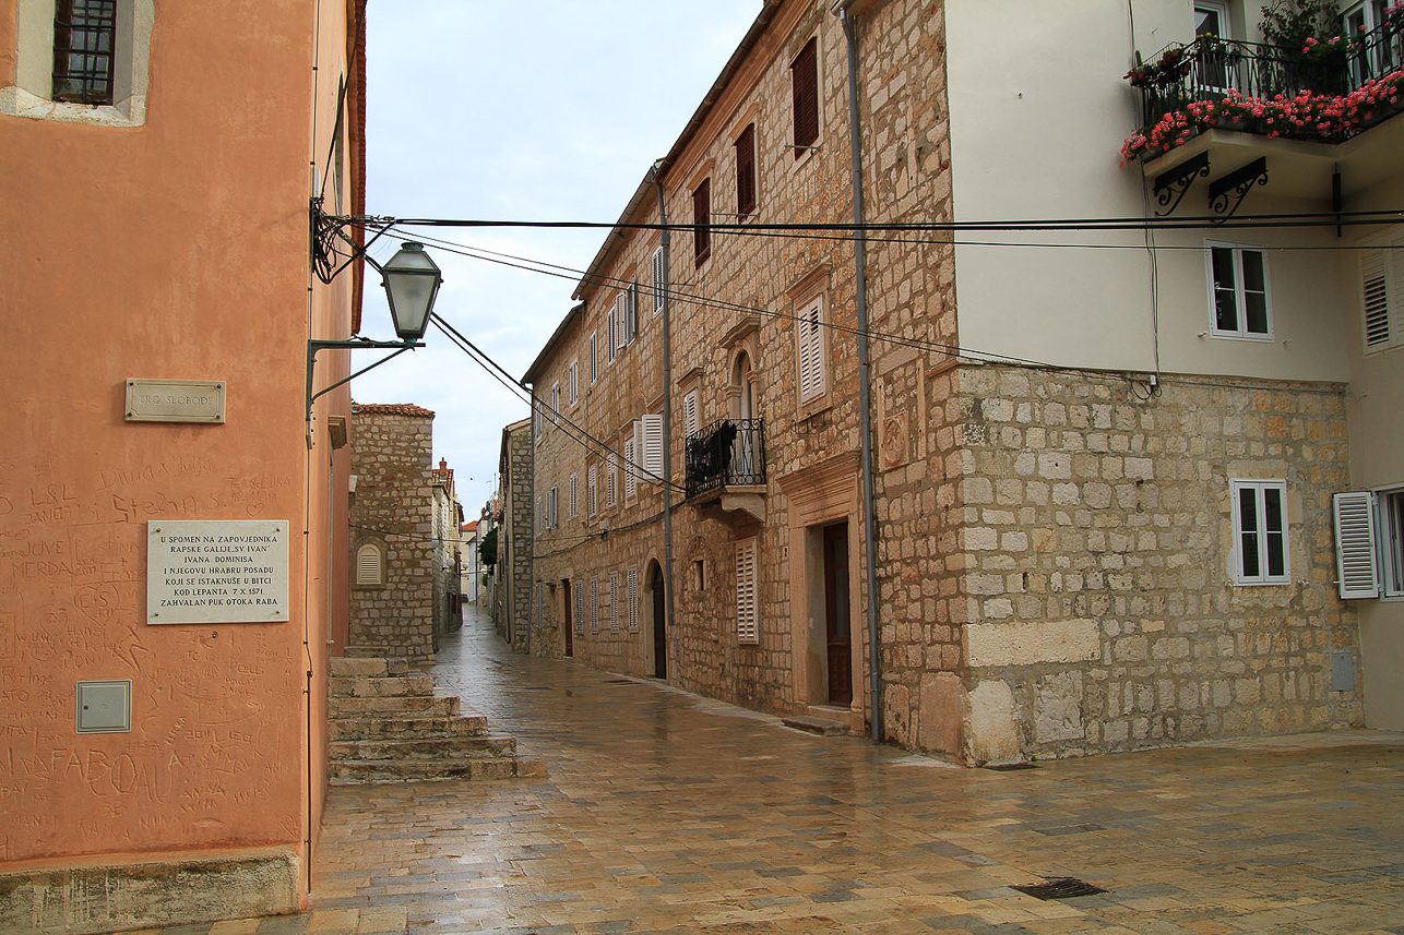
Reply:
M497 569L493 576L493 623L518 651L531 651L532 549L538 510L532 504L532 423L503 430L498 452Z

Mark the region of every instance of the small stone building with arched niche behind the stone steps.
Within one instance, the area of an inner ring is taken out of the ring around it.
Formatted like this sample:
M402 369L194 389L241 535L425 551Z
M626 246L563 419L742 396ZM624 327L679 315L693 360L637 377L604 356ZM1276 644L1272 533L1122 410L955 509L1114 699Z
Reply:
M347 656L434 661L434 413L351 407L351 622Z

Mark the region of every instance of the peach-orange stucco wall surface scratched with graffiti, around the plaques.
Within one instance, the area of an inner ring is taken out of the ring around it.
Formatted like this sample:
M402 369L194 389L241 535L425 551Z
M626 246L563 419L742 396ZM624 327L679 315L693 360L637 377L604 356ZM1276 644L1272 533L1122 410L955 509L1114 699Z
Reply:
M0 863L302 855L320 814L329 601L345 612L326 417L350 396L319 402L309 451L303 366L309 327L345 337L350 277L309 293L345 60L333 3L313 121L313 7L157 4L143 126L0 117ZM0 0L0 84L14 20ZM319 385L344 373L319 358ZM227 423L125 423L128 378L227 380ZM289 521L291 619L147 626L166 518ZM76 734L74 682L128 678L131 733Z

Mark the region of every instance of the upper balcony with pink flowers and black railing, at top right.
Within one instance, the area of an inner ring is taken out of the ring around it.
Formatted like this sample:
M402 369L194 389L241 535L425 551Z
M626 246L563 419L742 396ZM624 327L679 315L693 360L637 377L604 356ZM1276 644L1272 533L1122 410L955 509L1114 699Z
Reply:
M1126 80L1140 91L1144 125L1122 145L1123 163L1209 175L1210 160L1223 168L1273 154L1275 180L1302 190L1342 160L1355 185L1397 173L1398 126L1360 139L1404 112L1404 1L1376 10L1377 24L1356 34L1324 35L1321 18L1279 15L1264 20L1265 42L1202 35L1137 63Z

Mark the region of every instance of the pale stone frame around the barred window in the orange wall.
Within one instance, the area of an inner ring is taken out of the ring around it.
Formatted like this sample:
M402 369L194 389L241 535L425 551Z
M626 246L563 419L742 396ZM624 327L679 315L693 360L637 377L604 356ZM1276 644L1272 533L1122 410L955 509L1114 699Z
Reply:
M18 0L14 83L0 87L0 114L91 126L145 125L154 0L117 0L112 104L53 100L53 0Z

